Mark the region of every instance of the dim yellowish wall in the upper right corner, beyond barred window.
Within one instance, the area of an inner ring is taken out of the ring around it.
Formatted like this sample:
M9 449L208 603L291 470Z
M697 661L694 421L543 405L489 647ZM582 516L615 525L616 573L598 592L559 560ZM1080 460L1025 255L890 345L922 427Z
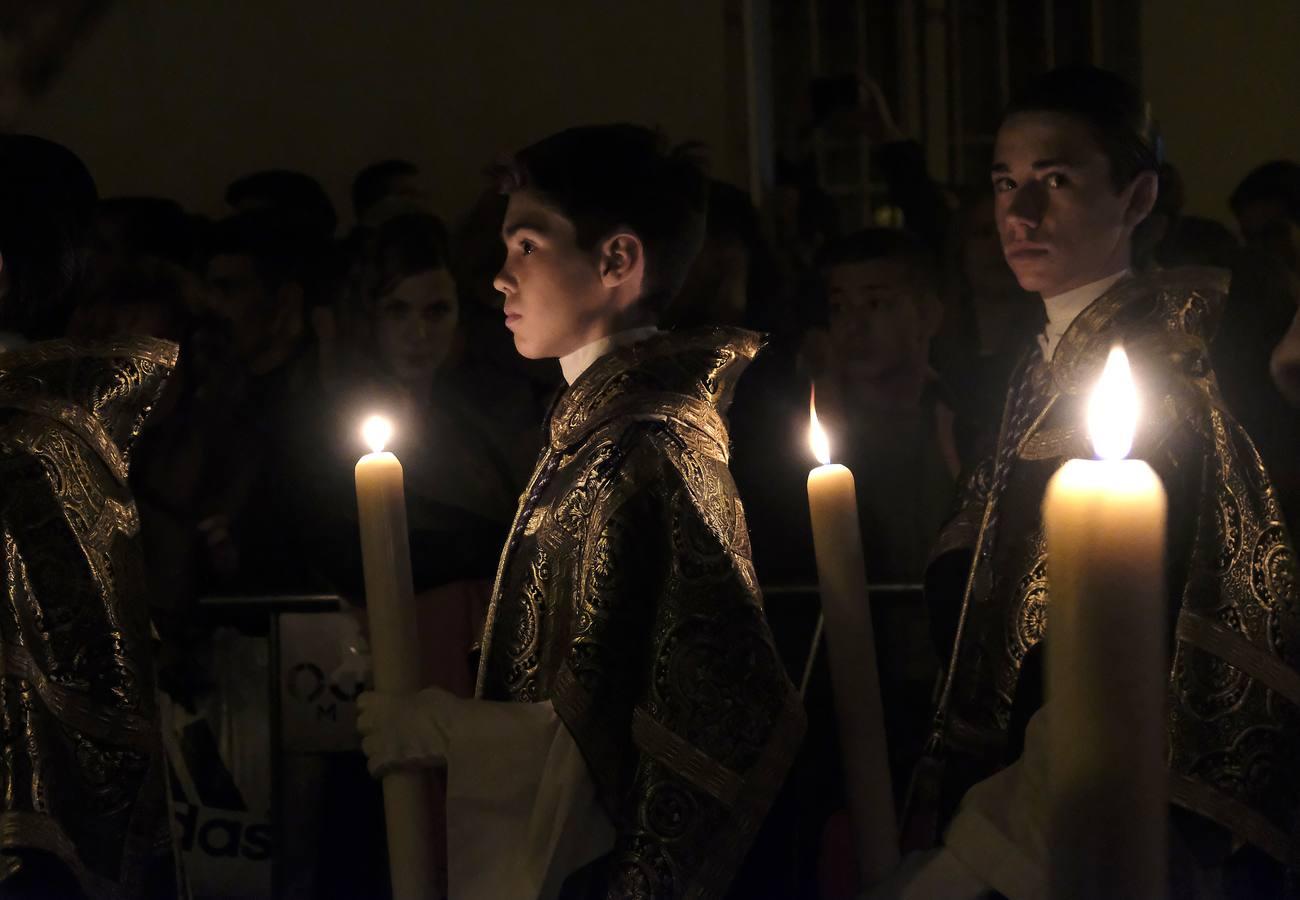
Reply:
M1300 0L1144 0L1143 81L1187 212L1234 225L1254 165L1300 160Z

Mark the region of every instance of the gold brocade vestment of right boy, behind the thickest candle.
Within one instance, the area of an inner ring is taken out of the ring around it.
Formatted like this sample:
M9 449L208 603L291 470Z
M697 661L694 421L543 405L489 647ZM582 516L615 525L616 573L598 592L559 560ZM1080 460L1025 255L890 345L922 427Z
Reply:
M1206 355L1227 274L1173 269L1119 282L1026 362L996 454L968 479L936 558L974 553L932 750L959 796L1009 762L1022 665L1050 620L1041 502L1091 458L1086 403L1123 343L1143 401L1134 449L1169 493L1169 767L1174 802L1300 865L1300 601L1296 558L1251 438Z

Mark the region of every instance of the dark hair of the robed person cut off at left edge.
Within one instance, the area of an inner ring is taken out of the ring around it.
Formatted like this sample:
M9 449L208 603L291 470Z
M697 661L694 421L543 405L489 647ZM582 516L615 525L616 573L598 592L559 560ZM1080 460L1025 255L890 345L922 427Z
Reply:
M66 147L0 135L0 259L9 289L0 329L58 337L84 274L95 181Z

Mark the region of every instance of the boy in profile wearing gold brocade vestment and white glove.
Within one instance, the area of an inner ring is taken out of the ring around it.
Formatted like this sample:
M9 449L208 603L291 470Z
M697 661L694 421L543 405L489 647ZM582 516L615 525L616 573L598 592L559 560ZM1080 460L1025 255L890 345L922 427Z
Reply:
M520 501L477 698L365 695L372 771L446 765L456 897L720 896L793 758L723 415L755 334L655 328L706 183L629 125L519 152L495 286L568 389Z

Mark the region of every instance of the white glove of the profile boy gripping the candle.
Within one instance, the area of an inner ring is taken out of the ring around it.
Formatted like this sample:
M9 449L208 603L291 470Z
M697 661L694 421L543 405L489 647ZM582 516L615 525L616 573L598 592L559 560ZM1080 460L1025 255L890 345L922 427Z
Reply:
M419 693L367 691L356 698L356 730L370 774L394 769L429 769L447 763L452 706L460 702L442 688Z

